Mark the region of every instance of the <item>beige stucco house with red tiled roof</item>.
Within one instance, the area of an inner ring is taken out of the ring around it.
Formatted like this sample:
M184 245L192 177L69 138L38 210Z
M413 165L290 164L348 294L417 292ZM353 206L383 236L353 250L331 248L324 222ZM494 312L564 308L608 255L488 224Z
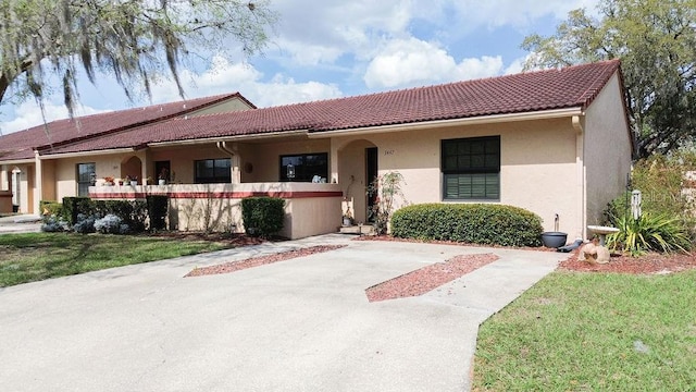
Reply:
M76 119L84 135L18 151L9 137L30 139L22 135L36 128L0 137L0 189L13 171L27 173L18 179L20 192L34 194L22 196L26 211L80 193L166 194L179 230L241 230L240 198L277 196L287 200L284 234L301 237L335 231L341 201L366 222L371 179L399 171L408 203L513 205L539 215L547 231L585 237L631 167L618 60L264 109L227 98L246 110L197 109L99 132ZM101 181L161 172L166 185Z

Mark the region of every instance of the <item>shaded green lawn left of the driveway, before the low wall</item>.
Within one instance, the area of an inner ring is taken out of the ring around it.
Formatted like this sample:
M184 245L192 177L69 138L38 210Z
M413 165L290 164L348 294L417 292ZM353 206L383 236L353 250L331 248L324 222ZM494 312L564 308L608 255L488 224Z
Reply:
M0 287L225 248L145 235L28 233L0 235Z

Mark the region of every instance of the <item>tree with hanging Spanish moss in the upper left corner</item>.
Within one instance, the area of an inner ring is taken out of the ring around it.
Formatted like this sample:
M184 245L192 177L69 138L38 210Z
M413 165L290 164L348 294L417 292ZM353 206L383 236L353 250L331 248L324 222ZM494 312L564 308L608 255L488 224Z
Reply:
M264 0L0 0L0 103L40 103L58 77L72 117L79 65L92 84L112 74L130 100L169 73L184 98L189 48L220 53L232 38L249 56L275 20Z

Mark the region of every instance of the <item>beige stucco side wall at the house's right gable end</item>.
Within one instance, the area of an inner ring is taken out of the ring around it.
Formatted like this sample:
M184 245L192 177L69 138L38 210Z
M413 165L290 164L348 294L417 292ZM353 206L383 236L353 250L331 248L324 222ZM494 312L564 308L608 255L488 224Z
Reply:
M587 224L602 223L602 211L625 191L631 171L631 136L618 75L587 108L584 123L584 162Z

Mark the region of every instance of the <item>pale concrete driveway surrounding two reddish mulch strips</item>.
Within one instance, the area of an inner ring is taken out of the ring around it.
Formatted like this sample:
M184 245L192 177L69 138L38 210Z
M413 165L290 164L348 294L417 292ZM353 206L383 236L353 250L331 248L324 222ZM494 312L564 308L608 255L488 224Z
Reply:
M567 255L325 235L0 289L3 391L462 391L480 322ZM347 247L228 274L194 267ZM490 265L420 297L364 290L456 255Z

